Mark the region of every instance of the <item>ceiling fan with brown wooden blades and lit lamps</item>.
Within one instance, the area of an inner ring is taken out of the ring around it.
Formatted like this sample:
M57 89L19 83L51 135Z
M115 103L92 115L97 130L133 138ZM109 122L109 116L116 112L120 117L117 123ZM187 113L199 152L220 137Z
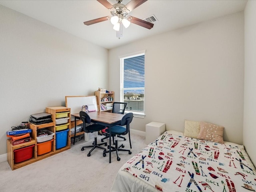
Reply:
M127 16L128 13L130 13L132 10L134 10L147 0L131 0L126 5L122 4L122 0L117 0L117 3L114 5L110 4L107 0L97 1L105 6L108 10L110 10L112 16L105 16L86 21L84 22L85 25L91 25L98 22L110 20L110 22L114 25L113 29L116 30L116 36L118 38L122 36L122 26L127 28L128 26L130 26L130 23L142 26L147 29L151 29L154 26L154 24L144 21L142 19L133 16Z

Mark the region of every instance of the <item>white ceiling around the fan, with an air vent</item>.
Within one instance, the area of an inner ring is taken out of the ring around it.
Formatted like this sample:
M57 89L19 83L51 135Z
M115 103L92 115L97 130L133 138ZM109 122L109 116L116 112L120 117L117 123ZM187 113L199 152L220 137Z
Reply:
M123 0L126 5L130 0ZM115 4L116 0L108 0ZM158 19L150 30L131 24L123 37L116 38L110 21L90 26L84 21L110 16L110 11L96 0L0 0L6 6L107 49L170 30L244 10L247 0L148 0L128 15L144 19L154 14Z

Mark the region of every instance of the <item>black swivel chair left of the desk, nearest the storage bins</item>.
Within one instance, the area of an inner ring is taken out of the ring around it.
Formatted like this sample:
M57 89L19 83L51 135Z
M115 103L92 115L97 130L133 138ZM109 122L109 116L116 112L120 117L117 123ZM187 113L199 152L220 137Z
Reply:
M92 149L89 151L89 153L87 154L88 157L91 156L91 152L95 149L95 148L100 148L103 149L104 151L106 151L106 148L102 147L101 145L105 145L107 146L107 142L105 143L101 143L101 144L97 144L97 133L99 130L102 130L103 128L105 128L105 126L103 125L99 125L99 124L90 124L91 123L91 118L90 116L83 111L80 111L80 119L82 120L82 124L80 124L79 126L82 126L84 132L86 133L93 133L94 132L94 142L92 143L92 145L88 145L88 146L83 146L81 148L81 151L84 150L84 148L90 148L92 147ZM90 124L88 126L86 126L86 123Z

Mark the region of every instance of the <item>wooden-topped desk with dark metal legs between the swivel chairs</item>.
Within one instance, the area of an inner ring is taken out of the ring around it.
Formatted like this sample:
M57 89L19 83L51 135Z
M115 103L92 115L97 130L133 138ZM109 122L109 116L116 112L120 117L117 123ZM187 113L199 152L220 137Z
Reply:
M80 114L71 114L75 118L75 133L74 138L76 137L76 120L80 119ZM100 125L104 125L109 127L109 148L111 149L111 127L115 125L119 125L124 114L118 113L110 113L110 112L102 112L102 111L95 111L89 112L88 115L91 118L91 121ZM111 163L111 152L109 153L109 163Z

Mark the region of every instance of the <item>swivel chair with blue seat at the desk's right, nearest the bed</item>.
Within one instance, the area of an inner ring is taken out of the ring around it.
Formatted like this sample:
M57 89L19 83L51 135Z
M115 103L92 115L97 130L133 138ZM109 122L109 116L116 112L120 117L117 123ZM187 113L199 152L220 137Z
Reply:
M132 154L132 152L128 149L121 149L121 147L124 148L124 144L121 144L120 146L118 146L118 142L117 142L118 135L126 135L129 133L129 137L130 137L129 130L130 130L130 123L132 122L132 118L133 118L133 113L125 114L121 120L120 125L111 127L111 135L116 136L115 146L114 147L111 146L111 149L109 149L108 151L103 151L104 157L106 157L106 153L111 153L113 151L116 151L117 160L120 161L120 157L118 156L118 151L128 151L129 154ZM123 127L124 125L126 125L126 128ZM109 128L107 128L106 131L109 133ZM130 142L130 145L131 145L131 142Z

